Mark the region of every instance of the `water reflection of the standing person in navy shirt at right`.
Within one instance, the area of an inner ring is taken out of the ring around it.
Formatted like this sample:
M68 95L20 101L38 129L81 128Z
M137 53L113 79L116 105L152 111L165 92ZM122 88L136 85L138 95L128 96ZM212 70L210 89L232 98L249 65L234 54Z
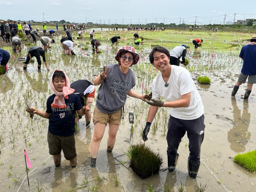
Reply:
M248 113L248 99L243 101L243 111L236 104L236 97L231 98L232 106L234 108L234 122L233 128L228 132L228 142L230 142L230 149L234 152L244 152L245 146L250 140L251 133L248 132L250 124L250 113Z

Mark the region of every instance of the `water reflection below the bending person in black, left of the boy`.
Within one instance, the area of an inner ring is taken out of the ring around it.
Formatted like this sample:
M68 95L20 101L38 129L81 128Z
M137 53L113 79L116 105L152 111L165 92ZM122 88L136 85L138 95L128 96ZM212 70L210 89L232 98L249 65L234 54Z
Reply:
M36 92L47 92L49 71L47 71L46 76L44 78L41 70L38 70L38 76L36 76L34 72L29 74L27 70L24 70L24 74L28 79L28 82L30 82L31 88L33 90L35 90Z

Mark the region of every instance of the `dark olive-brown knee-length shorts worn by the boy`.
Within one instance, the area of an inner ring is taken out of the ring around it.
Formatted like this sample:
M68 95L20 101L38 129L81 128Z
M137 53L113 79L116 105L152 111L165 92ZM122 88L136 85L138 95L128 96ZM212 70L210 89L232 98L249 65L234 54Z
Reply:
M49 146L49 153L51 155L58 155L62 150L66 160L72 160L76 157L74 134L72 136L64 137L54 135L48 131L47 141Z

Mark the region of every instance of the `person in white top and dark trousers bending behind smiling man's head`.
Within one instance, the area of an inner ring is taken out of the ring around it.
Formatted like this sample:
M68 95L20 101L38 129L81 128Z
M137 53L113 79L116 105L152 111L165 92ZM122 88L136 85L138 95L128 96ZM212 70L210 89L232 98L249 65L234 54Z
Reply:
M187 53L187 46L176 46L170 52L170 64L180 66L180 58L182 57L182 64L186 66L185 56Z

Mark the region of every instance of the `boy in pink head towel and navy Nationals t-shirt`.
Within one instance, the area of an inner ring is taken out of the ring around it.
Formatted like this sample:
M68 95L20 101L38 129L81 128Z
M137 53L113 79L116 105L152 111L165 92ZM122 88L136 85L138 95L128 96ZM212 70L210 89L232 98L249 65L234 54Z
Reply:
M75 146L75 113L83 116L90 110L88 106L82 106L80 98L70 88L69 78L62 70L55 70L52 74L50 87L52 94L46 103L46 111L36 108L32 110L43 118L49 119L47 141L49 153L53 155L56 167L61 163L61 150L66 160L70 161L71 167L76 167L76 146Z

